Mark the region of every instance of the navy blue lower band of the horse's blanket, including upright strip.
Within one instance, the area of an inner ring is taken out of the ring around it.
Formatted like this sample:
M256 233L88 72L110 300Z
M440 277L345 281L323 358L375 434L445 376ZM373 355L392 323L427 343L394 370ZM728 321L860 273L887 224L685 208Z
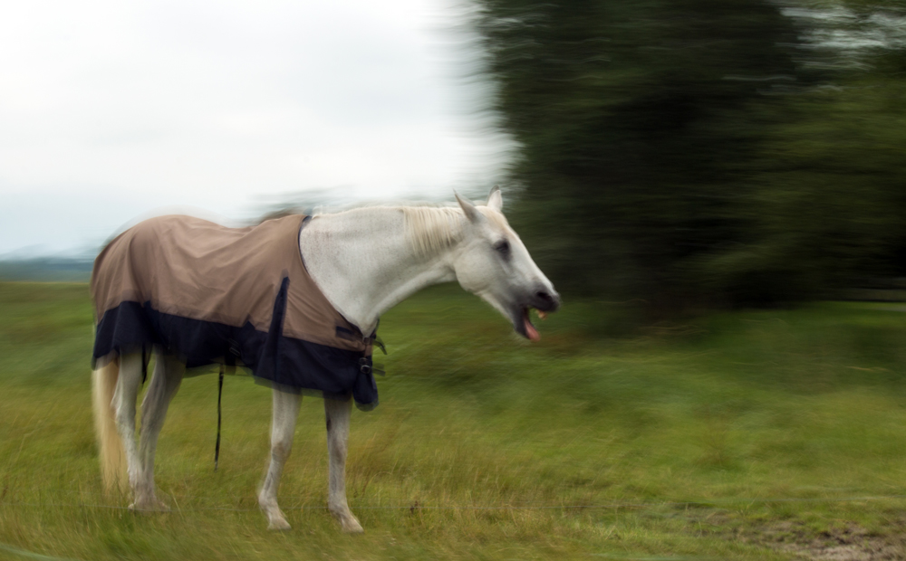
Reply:
M376 406L378 388L371 373L361 372L361 353L281 334L285 284L280 294L267 332L251 323L236 328L161 313L152 309L150 302L121 302L107 310L98 324L94 359L158 345L184 360L188 368L239 363L257 378L290 390L309 390L339 399L352 394L360 409ZM371 366L371 357L366 362Z

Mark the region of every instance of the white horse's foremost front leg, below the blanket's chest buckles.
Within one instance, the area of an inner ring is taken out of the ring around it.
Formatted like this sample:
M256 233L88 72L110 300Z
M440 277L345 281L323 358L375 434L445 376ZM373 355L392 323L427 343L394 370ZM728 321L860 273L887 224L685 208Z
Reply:
M359 519L352 515L346 503L346 442L349 440L349 418L352 399L339 401L324 399L324 416L327 419L327 453L330 458L330 494L327 508L340 521L344 532L359 533Z

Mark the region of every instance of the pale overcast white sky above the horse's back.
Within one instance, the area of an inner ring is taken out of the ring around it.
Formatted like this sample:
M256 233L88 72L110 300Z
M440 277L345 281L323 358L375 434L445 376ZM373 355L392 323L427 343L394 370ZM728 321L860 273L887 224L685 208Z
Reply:
M187 205L481 192L506 138L477 116L444 0L0 7L0 254L95 249Z

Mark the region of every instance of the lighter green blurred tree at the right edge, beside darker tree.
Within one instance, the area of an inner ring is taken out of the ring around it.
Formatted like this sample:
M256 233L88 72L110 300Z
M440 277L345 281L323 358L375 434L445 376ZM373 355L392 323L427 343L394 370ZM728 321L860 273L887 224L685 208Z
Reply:
M788 100L752 166L750 242L699 270L731 300L834 296L906 276L906 81Z

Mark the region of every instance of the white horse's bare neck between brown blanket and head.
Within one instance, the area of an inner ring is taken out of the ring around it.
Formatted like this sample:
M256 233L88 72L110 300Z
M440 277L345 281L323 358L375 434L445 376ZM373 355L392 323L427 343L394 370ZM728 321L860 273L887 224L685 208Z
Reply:
M322 214L302 229L305 267L333 307L370 334L378 318L411 294L455 281L444 255L419 257L406 238L400 209Z

